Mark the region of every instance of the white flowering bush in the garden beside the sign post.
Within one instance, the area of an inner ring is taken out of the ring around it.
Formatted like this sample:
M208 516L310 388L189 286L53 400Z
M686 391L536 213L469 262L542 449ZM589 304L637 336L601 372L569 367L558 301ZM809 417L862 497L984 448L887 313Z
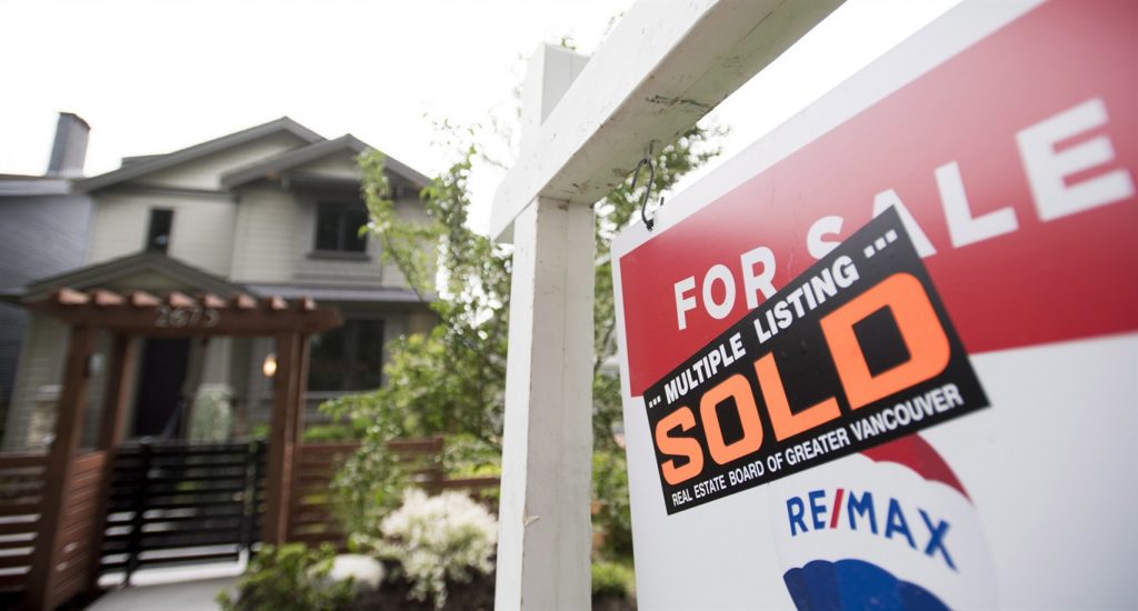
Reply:
M427 496L418 488L380 522L381 539L368 542L380 556L398 562L411 596L436 609L446 604L446 581L470 581L494 569L497 520L462 493Z

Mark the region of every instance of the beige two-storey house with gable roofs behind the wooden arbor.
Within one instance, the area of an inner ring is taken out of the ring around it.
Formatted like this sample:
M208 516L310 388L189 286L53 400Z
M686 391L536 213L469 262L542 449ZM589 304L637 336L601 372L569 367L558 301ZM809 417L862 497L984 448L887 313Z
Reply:
M381 261L376 240L358 233L366 210L355 157L366 148L352 135L327 140L283 117L74 180L71 192L90 200L82 266L30 279L9 300L42 299L61 288L312 297L338 307L345 322L312 339L308 410L377 388L386 342L428 330L435 317L398 269ZM418 193L428 179L390 157L386 168L397 212L424 218ZM39 314L26 317L5 449L49 440L58 398L66 328ZM269 420L271 338L139 341L127 436L184 436L204 396L231 406L236 434ZM100 338L97 353L108 349L109 339ZM101 411L102 369L93 358L88 424Z

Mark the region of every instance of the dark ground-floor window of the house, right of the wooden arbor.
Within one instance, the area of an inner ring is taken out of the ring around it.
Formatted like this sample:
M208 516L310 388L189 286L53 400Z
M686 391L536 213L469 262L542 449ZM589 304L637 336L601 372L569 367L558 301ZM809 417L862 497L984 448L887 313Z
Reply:
M339 329L313 336L308 390L379 388L382 360L384 321L345 321Z

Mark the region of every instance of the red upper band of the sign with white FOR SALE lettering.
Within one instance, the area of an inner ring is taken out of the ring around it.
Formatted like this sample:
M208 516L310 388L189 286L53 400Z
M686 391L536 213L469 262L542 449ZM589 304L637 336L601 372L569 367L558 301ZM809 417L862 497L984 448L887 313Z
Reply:
M891 205L971 353L1138 329L1136 27L1045 5L622 254L633 395Z

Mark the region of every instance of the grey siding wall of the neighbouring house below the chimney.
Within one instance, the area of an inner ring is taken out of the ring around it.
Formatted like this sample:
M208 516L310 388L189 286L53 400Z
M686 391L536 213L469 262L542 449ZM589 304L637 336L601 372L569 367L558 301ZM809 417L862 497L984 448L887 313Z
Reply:
M0 198L0 291L79 267L86 250L86 196ZM0 306L0 406L11 401L26 315Z

